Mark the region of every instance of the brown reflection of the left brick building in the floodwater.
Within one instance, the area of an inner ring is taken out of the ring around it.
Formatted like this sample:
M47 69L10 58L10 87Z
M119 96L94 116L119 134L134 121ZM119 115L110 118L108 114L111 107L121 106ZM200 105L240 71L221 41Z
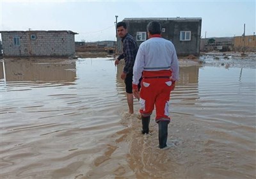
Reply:
M5 79L4 79L5 78ZM76 79L76 62L3 61L0 65L0 79L10 81L68 81Z

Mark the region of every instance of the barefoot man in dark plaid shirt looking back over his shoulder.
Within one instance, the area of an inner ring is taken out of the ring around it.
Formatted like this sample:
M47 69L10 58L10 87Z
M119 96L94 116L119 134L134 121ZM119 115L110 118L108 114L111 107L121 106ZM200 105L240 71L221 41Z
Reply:
M125 22L118 22L116 24L117 35L122 38L123 54L118 56L115 61L115 66L118 65L120 59L124 59L125 66L121 74L121 79L125 82L125 91L129 113L133 114L133 95L132 95L132 68L138 52L138 45L133 36L129 35Z

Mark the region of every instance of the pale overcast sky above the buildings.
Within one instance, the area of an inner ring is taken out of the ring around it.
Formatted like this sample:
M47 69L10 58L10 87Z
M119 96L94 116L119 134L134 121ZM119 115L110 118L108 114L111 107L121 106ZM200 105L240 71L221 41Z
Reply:
M250 1L83 1L0 0L0 30L71 30L76 41L115 40L118 21L140 17L201 17L201 36L253 35L255 0Z

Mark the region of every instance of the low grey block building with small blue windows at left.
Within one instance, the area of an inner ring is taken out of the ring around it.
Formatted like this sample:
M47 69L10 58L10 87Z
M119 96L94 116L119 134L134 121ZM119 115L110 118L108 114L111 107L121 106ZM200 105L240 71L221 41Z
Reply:
M64 57L75 54L72 31L0 31L4 57Z

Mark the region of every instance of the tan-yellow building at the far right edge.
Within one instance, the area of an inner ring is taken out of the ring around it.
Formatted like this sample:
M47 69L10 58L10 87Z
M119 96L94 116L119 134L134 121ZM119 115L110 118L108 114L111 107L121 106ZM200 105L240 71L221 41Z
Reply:
M234 49L236 51L253 51L256 52L256 36L235 36Z

